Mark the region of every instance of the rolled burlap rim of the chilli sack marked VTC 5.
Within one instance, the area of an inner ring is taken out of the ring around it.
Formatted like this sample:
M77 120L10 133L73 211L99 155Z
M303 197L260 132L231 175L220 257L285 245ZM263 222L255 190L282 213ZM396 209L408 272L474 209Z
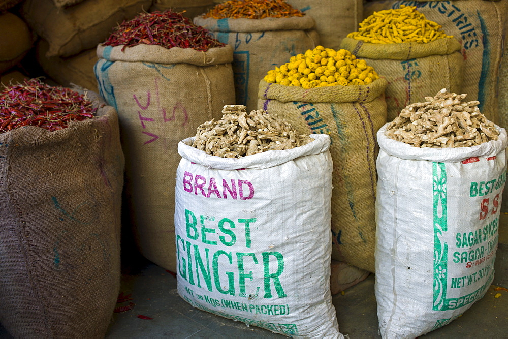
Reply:
M213 47L205 51L192 48L165 48L159 45L139 44L125 48L120 46L97 45L97 56L108 61L145 62L154 64L190 64L214 66L233 62L233 48L230 45Z

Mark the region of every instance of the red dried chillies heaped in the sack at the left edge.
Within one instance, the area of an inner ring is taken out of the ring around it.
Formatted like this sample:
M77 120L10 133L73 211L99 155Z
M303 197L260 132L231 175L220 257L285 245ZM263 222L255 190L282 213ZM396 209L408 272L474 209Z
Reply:
M56 131L68 127L70 121L92 118L97 112L86 99L86 94L65 87L52 87L38 79L4 87L0 92L2 132L22 126Z

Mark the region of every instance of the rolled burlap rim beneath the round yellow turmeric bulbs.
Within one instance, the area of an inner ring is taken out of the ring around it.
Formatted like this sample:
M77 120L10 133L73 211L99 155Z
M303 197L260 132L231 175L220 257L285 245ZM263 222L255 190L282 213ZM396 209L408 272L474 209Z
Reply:
M385 93L388 81L380 77L368 85L328 86L305 89L296 86L284 86L261 80L259 83L258 99L277 100L287 102L307 103L348 103L371 102Z

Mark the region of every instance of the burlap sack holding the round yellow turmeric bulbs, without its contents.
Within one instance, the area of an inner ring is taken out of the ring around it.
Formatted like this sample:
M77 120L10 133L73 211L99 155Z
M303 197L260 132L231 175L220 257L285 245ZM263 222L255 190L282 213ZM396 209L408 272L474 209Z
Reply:
M333 159L332 259L374 271L377 130L387 81L303 89L261 80L258 108L301 133L329 134ZM302 187L302 194L305 194Z

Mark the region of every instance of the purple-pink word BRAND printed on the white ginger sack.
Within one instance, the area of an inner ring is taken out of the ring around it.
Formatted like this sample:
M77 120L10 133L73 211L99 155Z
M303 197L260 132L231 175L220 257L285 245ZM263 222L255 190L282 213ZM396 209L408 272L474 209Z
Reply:
M226 179L222 179L220 186L222 188L222 194L214 177L207 179L203 175L193 175L187 171L183 174L183 190L194 193L195 195L199 193L205 198L228 199L229 193L229 198L235 200L238 198L240 198L240 200L247 200L254 197L254 186L248 180L231 179L231 181L228 182Z

